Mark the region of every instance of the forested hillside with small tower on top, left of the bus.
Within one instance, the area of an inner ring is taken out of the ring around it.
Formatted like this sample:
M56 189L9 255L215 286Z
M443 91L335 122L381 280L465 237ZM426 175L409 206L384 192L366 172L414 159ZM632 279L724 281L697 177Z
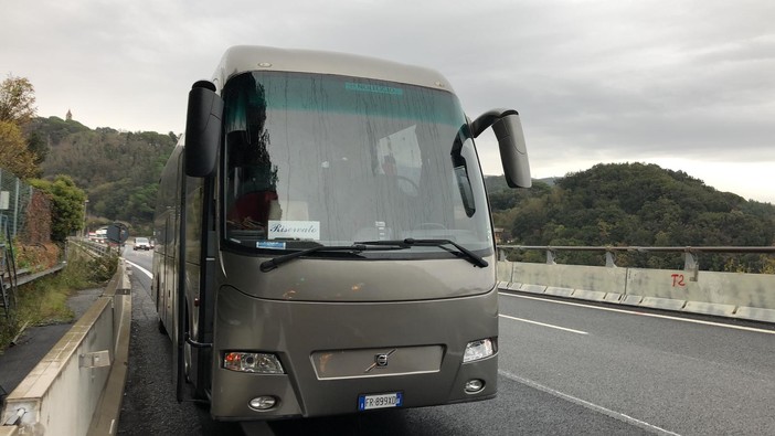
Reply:
M35 118L31 136L46 148L43 178L70 176L88 198L88 225L120 221L147 234L159 176L177 137L152 131L89 129L74 120Z

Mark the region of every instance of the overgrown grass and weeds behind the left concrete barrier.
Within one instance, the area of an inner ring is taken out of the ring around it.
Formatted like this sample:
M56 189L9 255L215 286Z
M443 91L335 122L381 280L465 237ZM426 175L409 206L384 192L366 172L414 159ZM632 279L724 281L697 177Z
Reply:
M67 298L81 289L104 286L117 265L116 255L92 259L73 249L62 270L20 286L10 318L0 310L0 353L26 327L74 321Z

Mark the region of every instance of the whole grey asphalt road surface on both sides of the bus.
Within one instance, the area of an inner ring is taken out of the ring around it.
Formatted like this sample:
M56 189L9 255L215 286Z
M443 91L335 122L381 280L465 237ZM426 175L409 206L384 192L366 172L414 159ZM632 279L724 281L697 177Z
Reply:
M126 252L150 269L151 254ZM768 435L773 328L503 294L496 400L237 425L174 400L171 344L150 277L132 268L129 375L120 435Z

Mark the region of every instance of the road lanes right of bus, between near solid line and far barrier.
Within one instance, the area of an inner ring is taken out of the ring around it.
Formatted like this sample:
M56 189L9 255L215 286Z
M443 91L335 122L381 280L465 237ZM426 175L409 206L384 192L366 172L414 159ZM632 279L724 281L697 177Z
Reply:
M681 435L775 430L772 326L514 294L500 312L516 380Z

